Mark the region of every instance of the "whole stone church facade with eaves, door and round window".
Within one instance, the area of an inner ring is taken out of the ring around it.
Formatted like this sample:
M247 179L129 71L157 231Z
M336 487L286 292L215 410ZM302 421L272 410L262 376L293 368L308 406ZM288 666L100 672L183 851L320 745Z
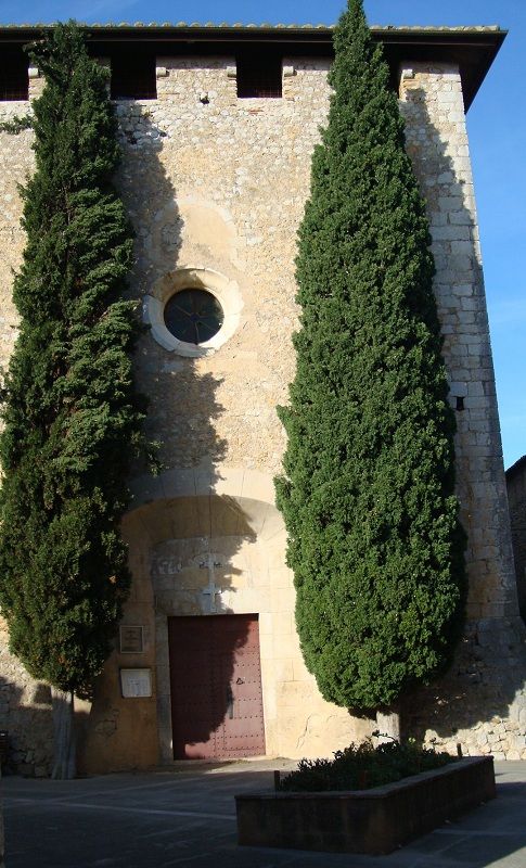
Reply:
M272 481L285 446L275 406L286 403L294 371L295 235L326 117L332 33L88 31L90 51L112 68L124 150L117 181L137 233L130 295L151 327L137 376L165 470L131 481L123 534L133 586L92 701L77 705L79 766L100 773L192 757L326 756L375 722L326 703L304 666ZM41 91L38 71L21 61L21 43L37 36L0 30L1 120L26 114ZM389 28L373 36L385 47L428 205L470 538L465 640L451 673L415 698L411 725L450 750L461 743L464 753L526 758L524 628L465 129L504 34ZM33 169L30 143L30 130L0 132L3 365L16 336L11 269L24 245L17 184ZM170 305L184 293L213 306L214 333L198 343L170 324ZM49 690L9 654L2 627L0 641L9 762L46 775Z

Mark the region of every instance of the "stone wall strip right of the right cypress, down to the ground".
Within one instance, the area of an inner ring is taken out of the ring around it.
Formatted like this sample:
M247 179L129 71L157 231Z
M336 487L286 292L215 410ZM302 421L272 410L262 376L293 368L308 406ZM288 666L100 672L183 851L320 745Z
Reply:
M450 750L458 742L470 755L526 758L526 633L518 616L459 71L408 64L400 95L408 152L433 235L470 578L466 631L456 664L441 684L415 698L413 725Z

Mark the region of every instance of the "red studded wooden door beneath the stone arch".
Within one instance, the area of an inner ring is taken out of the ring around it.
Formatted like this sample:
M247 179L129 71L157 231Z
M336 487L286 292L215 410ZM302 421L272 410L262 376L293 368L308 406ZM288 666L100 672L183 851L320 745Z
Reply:
M257 615L168 618L174 758L265 753Z

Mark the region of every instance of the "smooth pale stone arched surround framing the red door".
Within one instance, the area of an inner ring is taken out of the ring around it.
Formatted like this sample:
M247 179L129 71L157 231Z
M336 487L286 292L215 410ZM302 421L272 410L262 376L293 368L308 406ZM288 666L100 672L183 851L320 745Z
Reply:
M305 668L270 476L195 468L140 478L123 532L134 579L125 620L151 623L161 762L174 758L171 617L257 616L267 754L329 755L360 738L356 718L324 702Z

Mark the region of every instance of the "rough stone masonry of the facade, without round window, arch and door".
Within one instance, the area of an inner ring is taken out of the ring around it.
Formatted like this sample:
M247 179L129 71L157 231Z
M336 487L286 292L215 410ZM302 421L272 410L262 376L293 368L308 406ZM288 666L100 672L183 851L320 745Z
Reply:
M295 237L328 108L326 69L322 61L285 61L283 99L239 100L232 58L164 58L157 100L117 105L125 154L118 184L137 232L130 296L140 303L167 272L198 266L235 282L243 299L235 333L215 355L183 358L151 334L141 342L137 372L151 398L149 434L162 442L168 470L205 465L218 477L233 469L280 471L284 434L275 406L286 401L294 371ZM456 667L422 691L412 725L451 750L460 741L467 753L526 758L524 628L458 71L408 64L400 98L434 239L471 583ZM0 104L0 119L26 111L25 103ZM30 141L29 131L0 133L3 363L16 327L11 267L24 243L16 183L31 171ZM24 682L16 661L9 666L12 681ZM24 697L33 707L30 690ZM11 727L1 709L0 727ZM28 735L27 755L33 742Z

